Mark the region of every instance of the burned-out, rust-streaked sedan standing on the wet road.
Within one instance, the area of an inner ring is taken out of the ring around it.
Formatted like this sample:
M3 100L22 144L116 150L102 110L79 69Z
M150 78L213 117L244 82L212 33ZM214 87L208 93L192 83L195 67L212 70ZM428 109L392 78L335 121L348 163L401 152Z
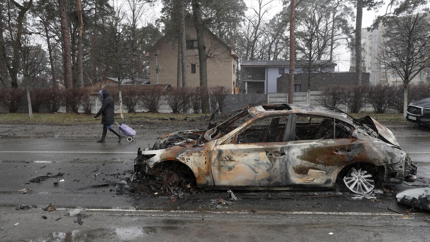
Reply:
M416 180L416 167L393 133L314 105L261 105L208 130L168 134L138 150L141 179L164 174L215 189L315 189L341 184L365 194L376 185ZM346 189L345 188L345 189Z

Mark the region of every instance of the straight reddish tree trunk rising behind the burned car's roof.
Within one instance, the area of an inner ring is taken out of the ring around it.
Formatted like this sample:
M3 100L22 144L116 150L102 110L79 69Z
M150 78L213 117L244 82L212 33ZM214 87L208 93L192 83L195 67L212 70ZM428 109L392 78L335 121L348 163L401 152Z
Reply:
M294 65L295 65L295 0L291 0L290 5L290 66L289 66L289 84L288 84L288 103L293 103L294 91Z

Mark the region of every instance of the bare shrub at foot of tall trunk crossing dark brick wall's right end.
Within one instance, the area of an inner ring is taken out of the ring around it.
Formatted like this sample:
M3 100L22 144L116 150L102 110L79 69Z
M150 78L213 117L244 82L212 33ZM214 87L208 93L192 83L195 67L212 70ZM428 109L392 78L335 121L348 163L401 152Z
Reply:
M344 102L352 113L359 113L367 102L368 85L354 85L345 88Z

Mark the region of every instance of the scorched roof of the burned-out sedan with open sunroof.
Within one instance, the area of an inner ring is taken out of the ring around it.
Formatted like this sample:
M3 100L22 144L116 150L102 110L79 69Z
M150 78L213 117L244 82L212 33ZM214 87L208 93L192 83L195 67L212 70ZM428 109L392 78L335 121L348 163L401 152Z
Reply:
M275 114L291 114L301 113L309 115L322 115L332 118L337 118L349 124L352 124L352 120L348 118L348 115L342 112L340 109L335 109L328 106L318 105L303 105L303 104L267 104L255 106L248 109L248 112L253 116L267 116Z

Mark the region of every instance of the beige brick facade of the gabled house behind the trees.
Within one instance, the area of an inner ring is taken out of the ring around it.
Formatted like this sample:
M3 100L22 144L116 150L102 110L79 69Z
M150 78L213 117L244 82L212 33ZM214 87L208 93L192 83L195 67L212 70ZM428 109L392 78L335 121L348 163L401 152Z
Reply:
M187 27L187 86L200 86L199 52L197 50L197 32L195 28ZM207 59L208 87L223 86L233 93L236 86L237 54L221 39L209 30L204 35ZM145 53L149 58L149 78L151 84L170 84L177 86L178 66L177 40L168 33L163 36L151 49ZM158 72L156 65L158 63Z

